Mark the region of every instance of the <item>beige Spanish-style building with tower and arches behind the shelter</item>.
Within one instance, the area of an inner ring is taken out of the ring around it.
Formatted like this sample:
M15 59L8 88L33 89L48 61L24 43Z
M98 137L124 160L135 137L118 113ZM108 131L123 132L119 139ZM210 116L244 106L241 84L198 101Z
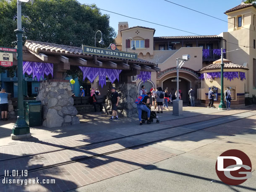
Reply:
M235 79L233 82L237 86L239 98L244 97L247 92L250 96L256 95L256 6L241 3L227 10L225 14L229 22L228 31L206 36L154 37L155 29L142 26L129 28L127 22L120 22L116 44L120 50L135 52L138 58L154 62L161 69L159 72L152 72L152 79L147 83L147 88L161 86L163 89L168 88L168 92L172 94L176 91L176 59L183 54L190 54L191 59L185 62L179 74L180 89L185 93L182 99L188 100L187 92L193 87L196 90L196 98L202 103L207 100L205 94L209 88L206 87L217 83L215 86L220 89L220 81L215 78L216 82L207 84L205 80L200 79L200 70L219 60L223 48L224 58L235 65L247 67L247 70L244 70L246 79ZM131 49L133 43L136 50ZM136 80L136 76L133 81L140 89L143 82ZM230 82L225 83L224 86L230 86Z

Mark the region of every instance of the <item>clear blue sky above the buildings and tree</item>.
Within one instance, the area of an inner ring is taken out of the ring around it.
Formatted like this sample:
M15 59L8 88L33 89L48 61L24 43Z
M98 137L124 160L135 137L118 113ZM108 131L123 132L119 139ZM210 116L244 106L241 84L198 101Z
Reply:
M199 35L218 35L227 31L227 22L196 13L164 0L78 0L82 4L95 3L98 8L120 13L126 16L170 26ZM226 10L241 3L241 0L170 0L173 3L206 13L227 21ZM118 31L118 22L128 21L129 27L144 26L156 29L154 36L194 35L175 29L138 21L114 13L101 11L110 15L110 26ZM100 29L99 29L100 30Z

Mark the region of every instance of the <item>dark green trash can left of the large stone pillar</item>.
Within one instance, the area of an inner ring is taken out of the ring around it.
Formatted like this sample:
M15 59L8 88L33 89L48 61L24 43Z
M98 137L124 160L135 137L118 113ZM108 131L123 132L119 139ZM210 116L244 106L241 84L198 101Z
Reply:
M41 101L24 101L25 120L29 127L42 125Z

